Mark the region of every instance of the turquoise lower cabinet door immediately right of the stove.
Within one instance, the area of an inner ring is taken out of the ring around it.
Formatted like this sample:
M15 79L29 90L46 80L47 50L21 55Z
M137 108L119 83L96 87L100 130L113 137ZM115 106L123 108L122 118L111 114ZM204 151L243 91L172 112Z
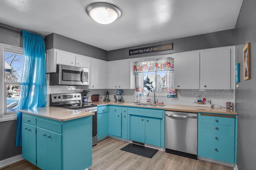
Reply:
M98 140L108 136L108 112L98 114L97 136Z

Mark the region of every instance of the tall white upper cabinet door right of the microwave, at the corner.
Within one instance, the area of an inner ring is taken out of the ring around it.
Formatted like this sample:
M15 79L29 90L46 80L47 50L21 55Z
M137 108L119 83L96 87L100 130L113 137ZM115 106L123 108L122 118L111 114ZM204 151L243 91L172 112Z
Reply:
M108 62L103 60L91 60L91 89L107 88Z

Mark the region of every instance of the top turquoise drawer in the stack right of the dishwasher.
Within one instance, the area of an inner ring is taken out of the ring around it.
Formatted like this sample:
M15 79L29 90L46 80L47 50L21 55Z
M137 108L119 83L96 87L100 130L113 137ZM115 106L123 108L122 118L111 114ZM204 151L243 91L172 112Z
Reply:
M231 116L231 117L219 117L219 116L207 116L208 114L200 113L200 122L214 123L219 125L231 125L234 126L235 119L232 115L220 115L220 116ZM215 114L212 114L215 115Z

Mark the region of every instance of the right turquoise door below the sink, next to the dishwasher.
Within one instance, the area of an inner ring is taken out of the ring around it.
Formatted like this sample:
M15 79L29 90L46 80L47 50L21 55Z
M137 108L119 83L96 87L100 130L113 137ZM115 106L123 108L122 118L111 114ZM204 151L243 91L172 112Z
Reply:
M145 117L145 143L161 147L161 120Z

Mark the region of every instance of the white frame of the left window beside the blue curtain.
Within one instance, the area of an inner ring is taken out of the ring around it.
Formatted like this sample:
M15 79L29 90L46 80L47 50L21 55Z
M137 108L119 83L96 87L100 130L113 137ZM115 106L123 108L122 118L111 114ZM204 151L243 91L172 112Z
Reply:
M0 64L0 122L2 121L10 121L16 120L17 114L16 112L10 114L6 113L6 84L4 82L4 68L5 68L5 53L17 53L23 55L23 48L16 47L13 45L7 45L0 43L0 60L2 64ZM15 82L14 84L20 84Z

